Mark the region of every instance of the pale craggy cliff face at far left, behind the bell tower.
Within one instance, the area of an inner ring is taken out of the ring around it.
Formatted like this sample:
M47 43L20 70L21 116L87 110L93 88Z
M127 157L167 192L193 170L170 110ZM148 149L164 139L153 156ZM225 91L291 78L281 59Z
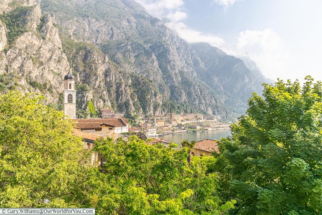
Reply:
M5 3L0 26L1 90L34 91L58 101L62 76L71 68L59 45L58 29L49 19L53 15L42 17L35 1Z

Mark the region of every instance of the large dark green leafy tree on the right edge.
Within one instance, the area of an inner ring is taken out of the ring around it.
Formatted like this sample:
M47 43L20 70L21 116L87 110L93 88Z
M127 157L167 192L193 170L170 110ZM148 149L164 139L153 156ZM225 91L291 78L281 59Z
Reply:
M322 83L305 80L264 84L222 139L213 171L222 196L238 197L235 213L321 214Z

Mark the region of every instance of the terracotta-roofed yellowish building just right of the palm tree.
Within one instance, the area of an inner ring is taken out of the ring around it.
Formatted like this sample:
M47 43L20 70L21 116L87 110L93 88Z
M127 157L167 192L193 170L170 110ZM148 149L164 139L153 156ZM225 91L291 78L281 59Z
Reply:
M219 153L218 142L215 140L205 139L194 144L194 149L191 150L196 157L210 156L213 152Z

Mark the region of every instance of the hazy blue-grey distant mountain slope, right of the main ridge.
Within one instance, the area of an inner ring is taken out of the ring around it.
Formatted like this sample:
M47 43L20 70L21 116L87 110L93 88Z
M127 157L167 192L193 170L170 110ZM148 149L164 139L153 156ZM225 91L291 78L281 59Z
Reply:
M239 98L245 103L252 92L261 93L260 79L265 77L262 74L256 77L241 59L207 43L195 43L191 47L209 69L202 71L200 77L210 86L212 80L217 79L230 98Z

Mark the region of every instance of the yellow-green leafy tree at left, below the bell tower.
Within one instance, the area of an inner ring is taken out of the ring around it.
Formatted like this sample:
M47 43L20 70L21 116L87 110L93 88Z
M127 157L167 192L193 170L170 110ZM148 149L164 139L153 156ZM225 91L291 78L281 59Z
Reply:
M85 160L72 122L19 91L0 96L0 207L79 207Z

